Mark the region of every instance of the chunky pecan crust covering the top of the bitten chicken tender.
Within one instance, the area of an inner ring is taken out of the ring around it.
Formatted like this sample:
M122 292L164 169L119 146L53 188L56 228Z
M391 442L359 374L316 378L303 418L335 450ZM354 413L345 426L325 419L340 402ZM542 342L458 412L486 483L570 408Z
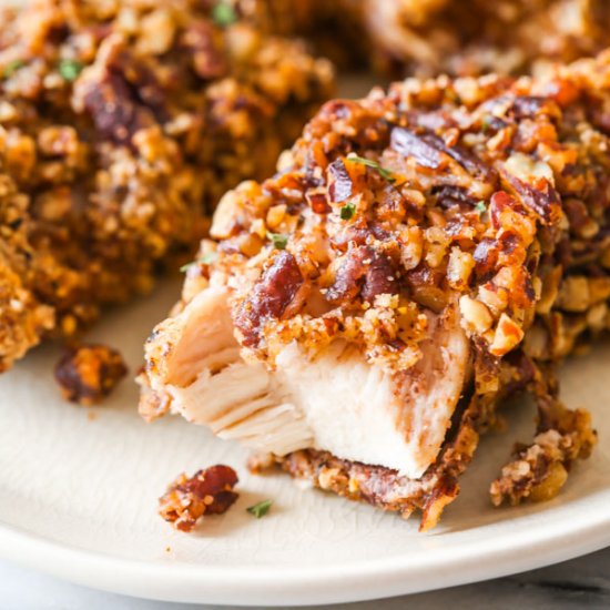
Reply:
M602 100L584 99L603 90L589 91L579 70L548 82L406 81L387 96L326 104L281 173L228 193L215 215L212 268L247 264L233 304L243 344L273 360L276 344L345 335L370 357L387 346L393 360L417 349L426 311L459 302L492 360L521 344L537 311L537 324L571 323L566 292L583 277L580 253L596 263L608 248L606 135L589 116ZM587 236L563 197L579 202ZM561 270L570 275L556 289ZM582 311L608 296L599 262L593 275ZM382 319L378 336L369 323ZM547 358L566 353L545 347Z

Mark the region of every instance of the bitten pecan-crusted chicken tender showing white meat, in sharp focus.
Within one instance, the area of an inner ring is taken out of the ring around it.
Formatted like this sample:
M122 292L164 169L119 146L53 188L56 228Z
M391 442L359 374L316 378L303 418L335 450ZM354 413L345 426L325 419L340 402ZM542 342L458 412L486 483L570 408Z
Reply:
M274 177L221 201L146 345L142 414L428 529L528 390L537 436L491 494L552 497L596 444L552 368L608 327L609 103L609 53L328 102Z

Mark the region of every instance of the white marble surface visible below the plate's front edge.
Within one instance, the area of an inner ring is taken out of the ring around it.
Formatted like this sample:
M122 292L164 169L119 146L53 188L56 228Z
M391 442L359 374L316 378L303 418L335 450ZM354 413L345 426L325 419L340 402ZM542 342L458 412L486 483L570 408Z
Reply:
M189 610L212 607L163 603L77 587L0 562L2 610ZM322 608L322 607L319 607ZM325 607L335 610L563 610L610 608L610 548L514 577L417 596ZM230 609L227 609L230 610Z

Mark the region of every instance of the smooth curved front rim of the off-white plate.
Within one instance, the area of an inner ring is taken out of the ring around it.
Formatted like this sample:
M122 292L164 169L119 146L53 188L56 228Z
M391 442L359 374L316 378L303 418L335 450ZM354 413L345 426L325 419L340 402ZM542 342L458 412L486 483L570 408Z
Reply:
M563 507L559 506L559 515L545 527L538 519L518 517L515 521L525 519L526 527L517 535L505 530L449 552L431 545L421 561L406 553L333 566L282 567L279 571L270 566L146 561L67 546L3 521L0 557L77 584L160 601L268 607L346 603L489 580L606 548L610 546L610 515L600 509L609 497L609 490L594 494L596 501L586 507L583 519L571 520L572 528L560 518Z

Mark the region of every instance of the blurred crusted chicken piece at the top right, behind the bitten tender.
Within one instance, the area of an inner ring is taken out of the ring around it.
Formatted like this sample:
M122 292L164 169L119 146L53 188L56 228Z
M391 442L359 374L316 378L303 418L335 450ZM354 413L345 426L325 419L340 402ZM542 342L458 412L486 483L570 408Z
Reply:
M257 12L342 65L394 75L526 73L601 51L610 24L604 0L261 0Z

